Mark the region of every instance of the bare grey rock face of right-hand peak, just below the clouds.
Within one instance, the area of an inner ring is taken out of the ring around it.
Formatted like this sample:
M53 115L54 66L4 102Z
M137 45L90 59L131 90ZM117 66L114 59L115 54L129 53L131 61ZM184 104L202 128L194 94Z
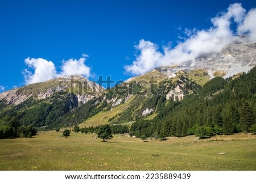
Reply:
M229 44L219 53L202 54L195 60L188 60L177 66L158 67L156 70L174 77L179 70L205 69L211 78L214 75L228 78L249 71L256 66L256 43Z

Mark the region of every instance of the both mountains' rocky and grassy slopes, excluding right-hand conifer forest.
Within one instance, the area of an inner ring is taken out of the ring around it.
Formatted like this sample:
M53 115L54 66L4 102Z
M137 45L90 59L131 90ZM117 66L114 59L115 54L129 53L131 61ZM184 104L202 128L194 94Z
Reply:
M213 84L209 88L215 89L214 84L223 88L222 84L232 79L221 77L249 71L256 65L255 58L256 43L230 44L218 54L204 55L181 65L158 67L106 90L79 75L29 84L0 94L0 125L1 117L7 115L16 116L22 125L32 124L43 129L95 125L94 121L110 125L143 121L144 125L147 124L144 120L151 122L166 115L170 103L176 107L190 95L198 95L205 85L209 87L209 81ZM213 69L213 66L216 67ZM236 78L239 77L244 74ZM221 92L220 89L214 91ZM212 99L214 93L208 92L210 94L203 98ZM121 111L114 109L117 107ZM92 117L93 120L89 120Z

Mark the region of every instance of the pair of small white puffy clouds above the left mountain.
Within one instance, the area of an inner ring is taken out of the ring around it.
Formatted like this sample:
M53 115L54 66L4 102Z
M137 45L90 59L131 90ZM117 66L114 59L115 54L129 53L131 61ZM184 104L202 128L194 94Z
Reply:
M74 58L67 61L63 60L59 73L56 71L52 61L28 57L25 59L28 69L22 71L25 82L26 84L44 82L49 79L63 77L64 75L84 75L85 77L90 77L90 67L85 65L88 55L82 54L82 56L79 60ZM32 73L31 69L34 70L34 73Z

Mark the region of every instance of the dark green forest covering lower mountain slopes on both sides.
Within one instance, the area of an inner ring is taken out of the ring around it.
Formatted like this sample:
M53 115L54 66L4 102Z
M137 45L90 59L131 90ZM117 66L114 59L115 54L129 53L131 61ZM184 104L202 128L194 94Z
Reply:
M130 136L139 138L164 139L193 134L208 138L218 134L256 133L255 78L256 67L237 78L213 78L201 87L180 75L180 82L188 83L183 89L184 99L179 100L175 96L167 99L164 94L134 95L135 99L129 107L108 118L108 122L113 133L130 133ZM175 87L174 83L169 82L164 83ZM166 89L164 86L161 88ZM110 95L111 91L106 90L105 98L118 96ZM127 94L119 96L125 98ZM6 107L3 102L0 104L2 108ZM36 130L59 130L113 108L111 103L104 100L104 96L92 99L81 107L78 105L73 95L55 94L46 100L30 98L9 110L2 109L0 138L32 137ZM154 117L142 115L147 108L154 108ZM80 131L96 132L97 127L81 128Z

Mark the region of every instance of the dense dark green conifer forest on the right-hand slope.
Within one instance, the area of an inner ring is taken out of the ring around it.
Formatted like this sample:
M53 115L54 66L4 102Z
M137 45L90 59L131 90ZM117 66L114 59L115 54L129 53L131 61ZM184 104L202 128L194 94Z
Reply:
M256 67L237 79L214 78L203 88L195 87L197 94L186 95L182 101L172 96L160 104L162 99L155 96L146 105L161 105L156 108L158 116L150 121L137 119L131 131L137 137L158 133L160 137L196 134L203 138L249 132L256 119L255 78Z

